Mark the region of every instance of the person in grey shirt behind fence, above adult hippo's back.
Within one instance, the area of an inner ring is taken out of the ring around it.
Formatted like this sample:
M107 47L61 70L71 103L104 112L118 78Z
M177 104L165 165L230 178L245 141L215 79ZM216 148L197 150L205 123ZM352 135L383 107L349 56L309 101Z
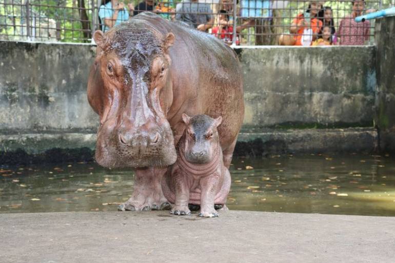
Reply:
M181 20L200 31L212 27L212 11L208 4L198 3L198 0L183 2L180 10L175 15L176 20Z

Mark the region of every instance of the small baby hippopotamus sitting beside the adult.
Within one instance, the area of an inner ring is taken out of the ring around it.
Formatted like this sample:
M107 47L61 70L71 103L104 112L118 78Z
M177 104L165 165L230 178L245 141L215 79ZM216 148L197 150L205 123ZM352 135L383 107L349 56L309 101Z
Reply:
M177 161L162 179L163 193L172 214L189 215L188 204L193 204L200 205L199 216L216 217L214 205L226 208L231 183L217 131L222 117L184 113L182 118L186 128L177 144Z

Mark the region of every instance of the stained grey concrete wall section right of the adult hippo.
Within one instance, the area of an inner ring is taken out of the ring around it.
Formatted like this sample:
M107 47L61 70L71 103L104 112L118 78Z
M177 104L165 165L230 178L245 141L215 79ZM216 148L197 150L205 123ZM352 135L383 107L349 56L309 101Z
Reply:
M375 52L374 46L238 50L245 124L372 127Z

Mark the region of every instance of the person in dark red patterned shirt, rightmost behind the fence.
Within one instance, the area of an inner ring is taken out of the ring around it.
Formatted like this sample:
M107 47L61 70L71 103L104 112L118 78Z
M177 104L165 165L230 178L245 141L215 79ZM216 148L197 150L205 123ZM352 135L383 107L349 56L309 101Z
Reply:
M352 12L346 15L339 25L338 36L340 45L364 45L369 40L370 22L357 23L354 18L362 15L365 8L364 0L352 0Z

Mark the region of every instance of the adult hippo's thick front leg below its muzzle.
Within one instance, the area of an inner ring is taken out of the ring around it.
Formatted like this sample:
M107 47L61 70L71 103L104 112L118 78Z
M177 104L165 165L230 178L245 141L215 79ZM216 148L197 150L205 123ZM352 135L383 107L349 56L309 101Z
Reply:
M134 172L134 189L132 197L118 206L120 211L147 211L169 209L163 195L161 180L167 168L136 169Z

